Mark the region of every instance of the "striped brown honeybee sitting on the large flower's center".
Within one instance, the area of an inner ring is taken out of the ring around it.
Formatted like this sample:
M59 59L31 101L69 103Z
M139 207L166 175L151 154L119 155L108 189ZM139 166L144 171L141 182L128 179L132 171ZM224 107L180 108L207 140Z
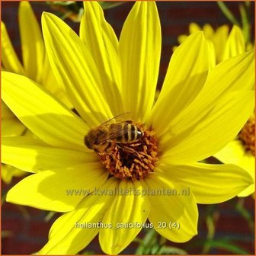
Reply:
M99 155L109 154L113 142L116 146L129 150L125 144L136 142L144 135L138 126L132 124L130 117L130 112L126 112L91 129L85 136L85 145Z

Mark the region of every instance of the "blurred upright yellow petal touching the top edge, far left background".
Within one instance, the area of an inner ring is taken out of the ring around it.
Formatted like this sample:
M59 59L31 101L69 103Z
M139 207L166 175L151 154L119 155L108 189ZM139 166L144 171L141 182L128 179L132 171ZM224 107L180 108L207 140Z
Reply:
M38 81L44 68L44 44L37 18L29 2L20 3L18 19L24 69L27 77Z

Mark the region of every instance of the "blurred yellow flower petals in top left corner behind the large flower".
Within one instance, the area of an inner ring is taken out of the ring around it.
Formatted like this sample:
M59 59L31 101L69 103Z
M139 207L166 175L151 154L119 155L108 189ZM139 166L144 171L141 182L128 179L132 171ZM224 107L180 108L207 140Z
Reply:
M14 51L4 22L1 22L2 69L33 79L70 107L70 103L66 100L65 94L63 94L63 91L59 88L50 68L42 31L29 2L20 2L18 21L21 34L23 63L20 62Z

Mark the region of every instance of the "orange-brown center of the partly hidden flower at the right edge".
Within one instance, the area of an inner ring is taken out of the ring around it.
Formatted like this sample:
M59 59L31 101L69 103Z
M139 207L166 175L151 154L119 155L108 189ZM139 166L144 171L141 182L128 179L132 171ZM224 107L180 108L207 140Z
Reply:
M245 150L255 155L255 118L251 117L238 134L238 139L242 141Z

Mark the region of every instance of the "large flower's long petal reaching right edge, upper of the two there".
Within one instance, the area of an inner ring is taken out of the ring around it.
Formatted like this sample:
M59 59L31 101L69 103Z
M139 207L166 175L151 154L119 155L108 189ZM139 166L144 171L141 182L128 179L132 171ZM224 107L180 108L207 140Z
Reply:
M191 127L206 117L214 105L226 98L227 94L232 91L248 91L253 86L254 52L243 53L221 62L210 71L200 94L184 111L179 111L176 118L167 119L166 114L159 118L165 120L165 126L168 126L168 133L164 136L174 137L185 130L191 130ZM157 126L154 128L157 129Z

